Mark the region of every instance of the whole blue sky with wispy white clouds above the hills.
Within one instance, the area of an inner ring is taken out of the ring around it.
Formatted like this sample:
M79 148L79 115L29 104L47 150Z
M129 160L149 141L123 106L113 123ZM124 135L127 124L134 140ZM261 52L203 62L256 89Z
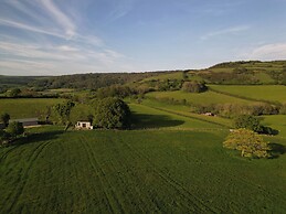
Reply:
M286 60L286 0L0 0L0 74Z

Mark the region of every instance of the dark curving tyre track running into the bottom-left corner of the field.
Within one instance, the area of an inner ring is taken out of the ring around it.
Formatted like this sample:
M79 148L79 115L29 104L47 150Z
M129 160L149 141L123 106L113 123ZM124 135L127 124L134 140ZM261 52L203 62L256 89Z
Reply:
M33 165L36 163L36 159L39 158L39 156L43 152L43 150L51 145L52 141L47 141L47 142L43 142L43 143L39 143L38 147L35 147L35 149L31 152L30 157L28 158L27 162L28 162L28 168L25 169L21 169L20 171L20 176L18 178L18 182L17 185L14 185L13 190L11 190L11 193L7 196L7 199L4 200L4 203L11 204L10 207L8 208L8 211L4 211L3 213L11 213L14 205L18 203L20 196L22 195L22 192L25 188L25 184L29 180L29 175L30 175L30 171L33 168ZM22 171L24 170L24 171ZM1 211L2 212L2 211Z

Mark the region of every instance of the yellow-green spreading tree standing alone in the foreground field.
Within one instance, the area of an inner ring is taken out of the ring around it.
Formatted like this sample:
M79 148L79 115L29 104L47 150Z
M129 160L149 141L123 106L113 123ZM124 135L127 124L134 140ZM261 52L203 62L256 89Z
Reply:
M241 151L242 157L269 158L269 142L263 140L258 133L248 129L233 130L223 142L223 147Z

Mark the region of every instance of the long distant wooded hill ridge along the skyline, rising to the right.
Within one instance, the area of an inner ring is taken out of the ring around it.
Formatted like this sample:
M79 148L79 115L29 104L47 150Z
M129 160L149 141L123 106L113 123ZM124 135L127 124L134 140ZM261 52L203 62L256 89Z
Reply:
M144 84L151 86L163 85L166 82L168 82L168 84L173 84L173 87L176 88L178 82L181 81L203 81L208 84L224 85L286 85L286 61L225 62L204 69L186 71L145 73L89 73L53 77L0 76L0 86L20 85L43 89L98 89L115 84L131 84L134 86Z

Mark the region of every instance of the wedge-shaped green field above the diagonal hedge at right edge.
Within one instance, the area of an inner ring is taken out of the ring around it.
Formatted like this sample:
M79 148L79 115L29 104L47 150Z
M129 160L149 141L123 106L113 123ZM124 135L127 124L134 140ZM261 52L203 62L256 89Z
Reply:
M259 86L235 86L235 85L211 85L211 88L251 99L269 101L286 101L286 86L259 85Z

